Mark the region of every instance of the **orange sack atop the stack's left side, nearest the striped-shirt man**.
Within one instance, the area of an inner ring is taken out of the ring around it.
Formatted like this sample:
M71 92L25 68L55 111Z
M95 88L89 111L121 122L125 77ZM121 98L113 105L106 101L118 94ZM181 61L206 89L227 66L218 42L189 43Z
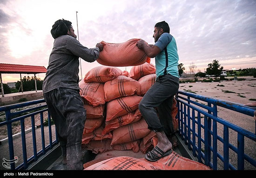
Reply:
M84 82L105 83L121 75L122 71L117 67L98 66L92 68L84 77Z

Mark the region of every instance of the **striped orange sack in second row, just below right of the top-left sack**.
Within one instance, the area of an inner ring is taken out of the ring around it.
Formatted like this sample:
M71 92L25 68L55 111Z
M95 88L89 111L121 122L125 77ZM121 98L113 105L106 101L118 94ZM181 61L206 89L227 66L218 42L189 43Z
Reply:
M123 96L141 93L141 85L134 79L120 75L104 84L104 92L105 101L110 101Z

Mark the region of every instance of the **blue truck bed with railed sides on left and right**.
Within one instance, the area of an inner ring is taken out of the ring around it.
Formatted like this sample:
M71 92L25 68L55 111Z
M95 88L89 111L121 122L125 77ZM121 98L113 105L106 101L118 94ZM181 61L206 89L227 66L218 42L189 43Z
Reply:
M212 170L256 170L256 121L252 132L218 116L218 109L224 108L253 118L256 108L183 91L179 91L175 99L178 108L178 131L175 133L178 146L174 148L175 152ZM27 106L31 107L22 109ZM0 126L5 125L8 134L8 155L1 158L6 170L65 170L57 132L47 111L44 99L0 107L0 112L5 112L6 116ZM48 125L44 126L43 115L46 113ZM36 136L36 114L40 114L40 137ZM31 119L32 156L27 156L26 118ZM13 144L13 122L20 122L19 146ZM248 144L254 148L249 149L249 152L246 150ZM17 149L22 153L19 158L14 153ZM84 163L95 156L91 151L83 150Z

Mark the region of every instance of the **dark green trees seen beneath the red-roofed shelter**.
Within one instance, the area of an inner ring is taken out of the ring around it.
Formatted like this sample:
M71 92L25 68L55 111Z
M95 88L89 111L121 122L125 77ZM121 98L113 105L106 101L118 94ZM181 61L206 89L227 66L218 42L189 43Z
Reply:
M35 85L34 85L34 77L29 77L29 76L24 76L22 79L22 86L23 86L23 91L27 92L27 91L33 91L35 90ZM42 90L42 86L43 86L43 80L41 80L40 78L36 78L36 87L37 90ZM17 81L15 83L15 87L17 90L19 90L20 88L20 81Z

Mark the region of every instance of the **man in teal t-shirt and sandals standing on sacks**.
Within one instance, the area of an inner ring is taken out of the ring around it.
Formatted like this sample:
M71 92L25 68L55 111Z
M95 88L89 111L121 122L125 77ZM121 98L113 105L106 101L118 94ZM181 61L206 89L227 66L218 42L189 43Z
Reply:
M149 161L157 161L172 152L172 144L168 137L175 132L171 110L173 97L179 89L180 76L176 41L169 32L168 23L158 22L155 24L153 35L155 45L148 45L144 40L137 43L137 46L148 57L155 58L156 67L155 84L151 86L139 104L140 112L148 124L148 129L153 130L158 138L155 148L145 155Z

